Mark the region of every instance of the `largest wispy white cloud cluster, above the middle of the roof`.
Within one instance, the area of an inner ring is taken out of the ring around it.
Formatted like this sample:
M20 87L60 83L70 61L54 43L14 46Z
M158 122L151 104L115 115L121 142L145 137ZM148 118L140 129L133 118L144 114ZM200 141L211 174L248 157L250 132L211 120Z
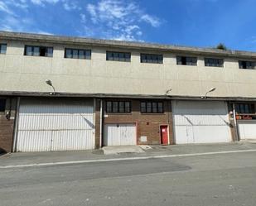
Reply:
M91 30L100 33L100 37L136 41L142 36L142 22L152 27L161 25L157 17L147 14L133 1L100 0L87 4L86 9L93 24Z

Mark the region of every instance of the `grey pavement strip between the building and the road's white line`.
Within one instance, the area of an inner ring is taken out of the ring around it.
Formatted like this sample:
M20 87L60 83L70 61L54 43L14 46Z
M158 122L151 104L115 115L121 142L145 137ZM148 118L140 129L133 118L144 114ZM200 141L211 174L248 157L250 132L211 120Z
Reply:
M151 149L144 148L143 152L140 153L120 152L118 154L112 155L104 155L103 150L12 153L0 156L0 166L86 160L111 160L127 157L143 158L153 156L171 156L181 154L246 150L256 150L256 144L249 142L233 142L228 144L151 146Z

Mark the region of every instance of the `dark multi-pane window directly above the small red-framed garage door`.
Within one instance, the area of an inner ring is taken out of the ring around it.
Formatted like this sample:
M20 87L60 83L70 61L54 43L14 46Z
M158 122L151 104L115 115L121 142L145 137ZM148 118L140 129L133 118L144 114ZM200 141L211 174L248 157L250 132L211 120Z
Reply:
M107 113L131 113L131 102L128 101L107 101Z

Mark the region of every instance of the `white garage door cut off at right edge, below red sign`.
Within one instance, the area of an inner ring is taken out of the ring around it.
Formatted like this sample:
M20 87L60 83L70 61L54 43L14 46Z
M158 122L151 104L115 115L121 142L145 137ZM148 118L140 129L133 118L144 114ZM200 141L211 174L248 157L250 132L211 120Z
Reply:
M256 120L239 120L238 126L241 140L256 140Z

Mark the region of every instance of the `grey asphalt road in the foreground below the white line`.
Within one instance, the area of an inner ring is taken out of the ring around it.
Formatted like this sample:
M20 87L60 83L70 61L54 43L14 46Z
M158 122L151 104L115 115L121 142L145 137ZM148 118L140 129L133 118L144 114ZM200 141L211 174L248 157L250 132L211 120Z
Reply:
M0 170L0 205L256 205L256 152Z

